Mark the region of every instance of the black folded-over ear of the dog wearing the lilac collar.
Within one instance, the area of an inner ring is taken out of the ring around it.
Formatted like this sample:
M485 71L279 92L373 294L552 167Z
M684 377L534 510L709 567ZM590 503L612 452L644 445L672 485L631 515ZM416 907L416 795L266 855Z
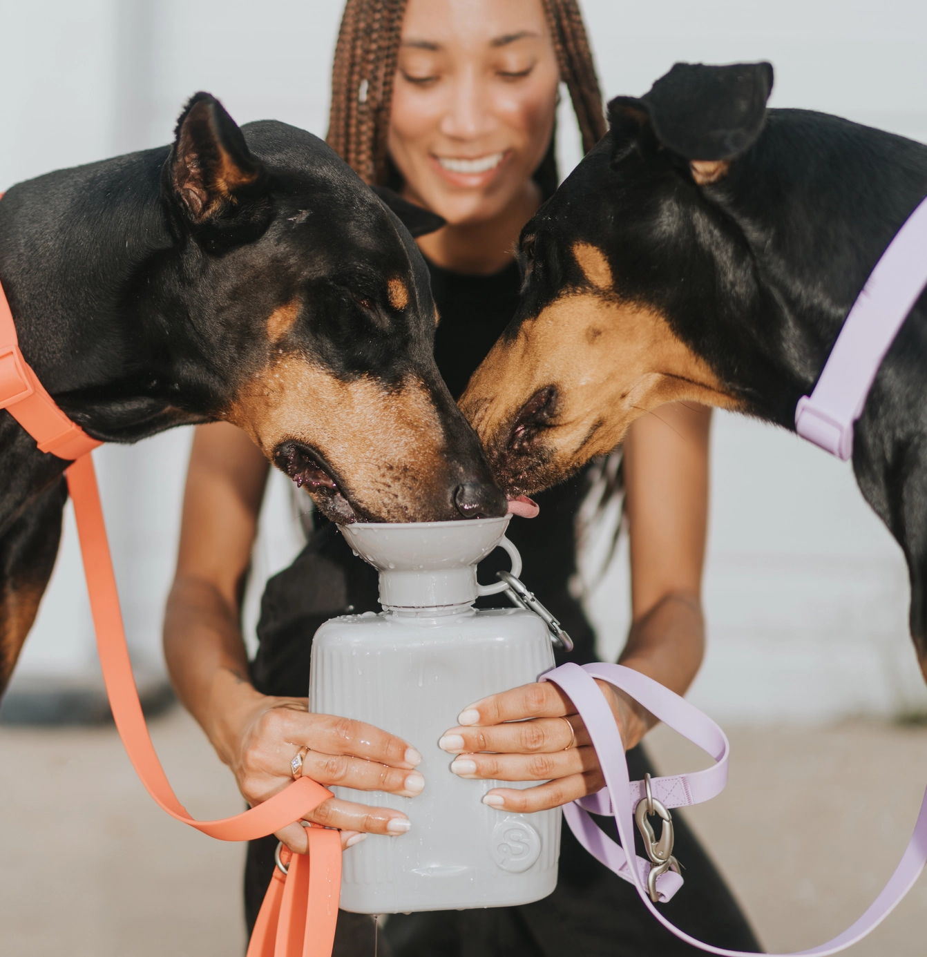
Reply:
M660 145L689 161L696 183L714 183L756 143L772 89L770 63L676 63L640 100L609 103L612 128L622 131L613 138L626 141L635 123L640 137L648 125Z

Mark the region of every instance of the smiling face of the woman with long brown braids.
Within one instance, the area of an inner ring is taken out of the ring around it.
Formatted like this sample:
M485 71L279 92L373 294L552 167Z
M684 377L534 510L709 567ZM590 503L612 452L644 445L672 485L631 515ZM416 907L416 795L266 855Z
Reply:
M547 152L558 81L541 0L409 0L389 130L406 193L453 224L505 210Z

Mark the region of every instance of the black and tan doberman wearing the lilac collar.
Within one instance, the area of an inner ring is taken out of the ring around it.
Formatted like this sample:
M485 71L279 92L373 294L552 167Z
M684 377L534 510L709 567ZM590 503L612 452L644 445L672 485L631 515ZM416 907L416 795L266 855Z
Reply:
M768 63L676 64L525 227L518 312L461 407L509 494L690 400L795 428L850 306L927 194L927 146L767 109ZM925 253L927 255L927 253ZM927 294L856 423L853 470L904 549L927 675Z

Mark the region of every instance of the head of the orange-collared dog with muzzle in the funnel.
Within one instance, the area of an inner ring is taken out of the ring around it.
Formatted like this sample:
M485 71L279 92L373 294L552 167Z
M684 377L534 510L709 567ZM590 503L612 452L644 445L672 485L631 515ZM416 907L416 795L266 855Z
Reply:
M402 222L440 217L384 202L303 130L239 129L208 94L177 124L162 195L182 251L164 281L188 320L180 394L337 522L505 514L435 366L428 271Z

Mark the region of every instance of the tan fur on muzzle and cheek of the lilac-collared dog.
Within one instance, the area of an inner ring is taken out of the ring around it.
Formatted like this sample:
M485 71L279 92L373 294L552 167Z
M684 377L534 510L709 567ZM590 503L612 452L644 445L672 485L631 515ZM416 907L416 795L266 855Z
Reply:
M592 328L599 335L590 336ZM534 472L509 452L510 430L538 390L556 386L556 419L544 430ZM667 402L733 409L711 367L652 309L588 292L567 293L514 340L493 346L461 397L490 463L511 492L539 491L621 441L628 426ZM518 471L520 479L513 478Z

